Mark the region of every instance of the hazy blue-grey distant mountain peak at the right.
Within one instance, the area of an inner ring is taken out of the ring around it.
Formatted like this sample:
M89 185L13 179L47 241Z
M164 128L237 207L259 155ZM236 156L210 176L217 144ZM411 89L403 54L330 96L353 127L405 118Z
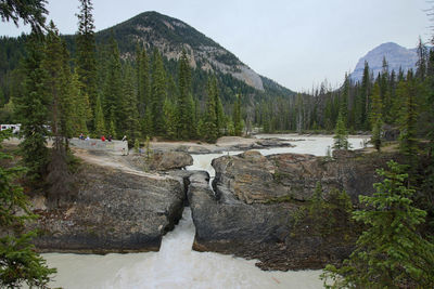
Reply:
M373 76L376 77L382 70L383 57L385 57L388 63L390 71L395 70L397 73L399 67L401 67L404 71L407 71L410 68L414 69L418 61L418 53L416 49L406 49L394 42L383 43L359 60L356 68L350 74L350 78L355 81L361 80L365 61L368 62L369 68L373 71Z

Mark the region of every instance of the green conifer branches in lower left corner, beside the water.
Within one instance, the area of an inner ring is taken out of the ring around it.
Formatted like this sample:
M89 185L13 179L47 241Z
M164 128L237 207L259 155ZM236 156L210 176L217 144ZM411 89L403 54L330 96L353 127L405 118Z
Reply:
M11 134L0 131L0 160L11 157L1 152L1 143ZM0 238L0 287L17 288L23 284L29 287L44 287L55 270L49 268L46 261L35 252L31 238L35 232L22 233L25 221L36 219L27 208L27 198L15 179L23 174L20 167L0 166L0 227L8 234ZM16 214L21 210L23 213Z

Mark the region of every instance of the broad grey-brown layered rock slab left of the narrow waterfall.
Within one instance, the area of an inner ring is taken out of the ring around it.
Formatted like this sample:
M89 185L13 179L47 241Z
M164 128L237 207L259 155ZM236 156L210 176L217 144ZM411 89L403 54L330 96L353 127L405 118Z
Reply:
M182 215L182 179L127 173L84 165L76 199L55 210L35 210L40 251L157 251ZM40 200L39 200L40 202Z

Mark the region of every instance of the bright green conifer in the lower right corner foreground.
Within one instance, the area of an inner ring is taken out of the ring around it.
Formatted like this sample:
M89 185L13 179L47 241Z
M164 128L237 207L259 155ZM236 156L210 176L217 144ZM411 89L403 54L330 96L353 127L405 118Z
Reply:
M434 246L418 233L426 213L412 206L414 191L408 188L403 167L388 162L390 171L374 184L373 196L359 196L366 205L354 219L368 229L341 268L328 265L323 278L336 288L432 288ZM328 286L329 287L329 286Z

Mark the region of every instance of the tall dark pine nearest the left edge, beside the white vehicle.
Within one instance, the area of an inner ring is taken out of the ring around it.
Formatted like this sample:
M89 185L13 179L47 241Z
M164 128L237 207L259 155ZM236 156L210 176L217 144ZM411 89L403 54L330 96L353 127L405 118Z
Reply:
M43 70L43 43L41 38L30 35L27 42L27 57L23 62L24 93L16 100L16 115L20 116L21 133L24 140L20 144L23 163L28 168L27 178L39 183L48 163L46 136L50 97L43 84L48 75Z

